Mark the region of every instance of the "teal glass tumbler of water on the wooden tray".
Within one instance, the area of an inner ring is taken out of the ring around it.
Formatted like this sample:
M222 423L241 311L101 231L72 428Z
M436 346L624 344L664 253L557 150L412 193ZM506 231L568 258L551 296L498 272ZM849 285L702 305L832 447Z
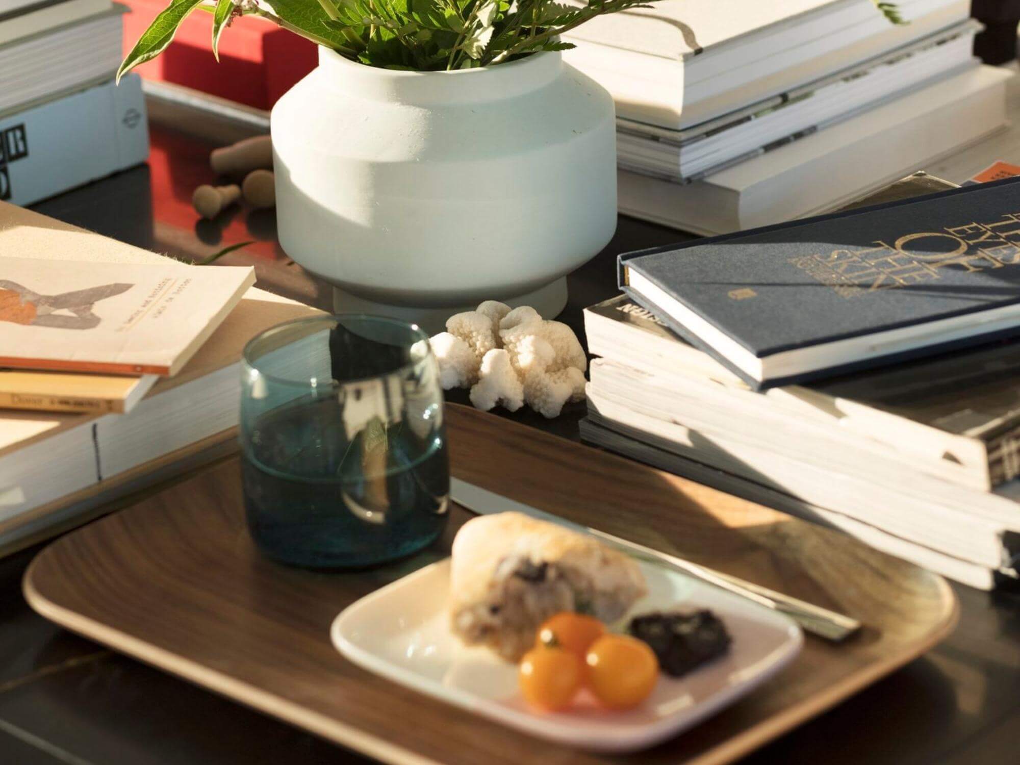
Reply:
M303 319L245 351L248 525L285 563L368 566L443 531L450 491L436 360L417 327Z

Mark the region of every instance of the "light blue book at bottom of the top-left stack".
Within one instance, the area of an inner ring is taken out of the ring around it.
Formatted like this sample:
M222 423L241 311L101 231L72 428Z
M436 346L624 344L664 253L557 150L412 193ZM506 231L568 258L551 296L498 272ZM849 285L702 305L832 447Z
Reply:
M0 113L0 199L28 205L149 156L142 80L129 74Z

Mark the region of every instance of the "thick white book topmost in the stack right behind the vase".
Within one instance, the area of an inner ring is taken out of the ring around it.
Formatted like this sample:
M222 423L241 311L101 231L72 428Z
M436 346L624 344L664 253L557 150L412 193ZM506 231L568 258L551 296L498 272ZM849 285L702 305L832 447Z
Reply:
M889 23L871 0L668 0L572 30L564 56L613 94L619 116L683 129L970 15L969 0L899 7L910 23Z

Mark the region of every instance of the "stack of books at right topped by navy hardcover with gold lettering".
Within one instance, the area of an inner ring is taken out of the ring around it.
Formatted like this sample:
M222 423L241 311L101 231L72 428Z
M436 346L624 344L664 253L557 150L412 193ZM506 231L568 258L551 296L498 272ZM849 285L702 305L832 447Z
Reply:
M1018 205L1007 180L621 256L582 438L1015 582Z

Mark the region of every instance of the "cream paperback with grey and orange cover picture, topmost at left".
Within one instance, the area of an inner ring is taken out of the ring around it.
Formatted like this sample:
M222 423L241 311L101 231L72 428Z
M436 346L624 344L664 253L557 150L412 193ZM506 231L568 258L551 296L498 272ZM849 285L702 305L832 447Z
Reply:
M36 240L4 226L0 252ZM0 256L0 366L172 376L254 283L251 267Z

